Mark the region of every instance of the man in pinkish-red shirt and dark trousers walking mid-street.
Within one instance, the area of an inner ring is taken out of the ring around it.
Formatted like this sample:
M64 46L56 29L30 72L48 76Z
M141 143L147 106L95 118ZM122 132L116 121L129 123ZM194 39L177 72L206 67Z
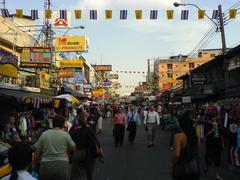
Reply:
M122 108L119 108L113 119L115 147L123 145L126 122L127 116L122 112Z

